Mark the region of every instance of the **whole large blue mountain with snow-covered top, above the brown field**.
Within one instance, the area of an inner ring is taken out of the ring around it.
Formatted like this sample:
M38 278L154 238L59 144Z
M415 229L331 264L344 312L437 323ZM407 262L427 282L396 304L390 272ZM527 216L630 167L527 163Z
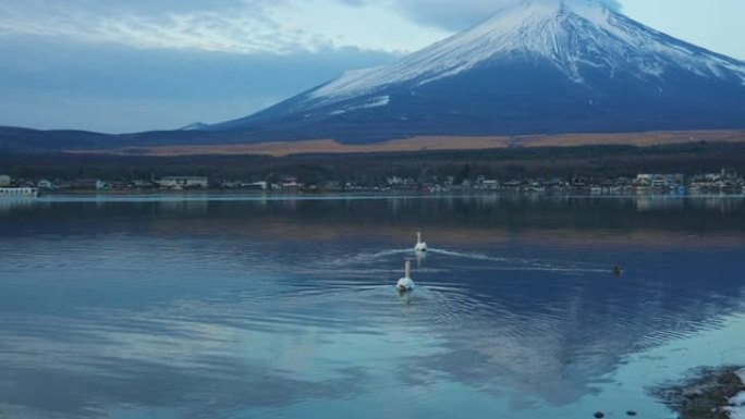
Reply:
M598 2L525 0L393 64L199 130L373 143L743 127L745 62Z

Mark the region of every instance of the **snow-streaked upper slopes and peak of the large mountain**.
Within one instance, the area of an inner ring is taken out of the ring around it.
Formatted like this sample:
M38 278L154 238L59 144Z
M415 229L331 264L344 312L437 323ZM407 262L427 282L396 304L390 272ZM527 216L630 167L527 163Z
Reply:
M576 83L582 67L623 67L639 77L659 77L671 65L704 76L745 83L735 60L679 41L601 3L588 0L526 0L483 24L388 66L357 70L312 91L307 99L343 99L402 82L427 84L502 57L522 54L550 61Z

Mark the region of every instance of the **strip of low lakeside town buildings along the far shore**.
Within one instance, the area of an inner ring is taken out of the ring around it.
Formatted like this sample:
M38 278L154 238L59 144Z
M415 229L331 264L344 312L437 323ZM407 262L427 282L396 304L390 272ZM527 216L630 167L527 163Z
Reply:
M636 177L536 177L487 178L484 175L443 176L429 180L392 175L382 182L343 181L304 182L297 177L264 180L215 180L207 176L169 175L159 178L132 180L47 180L12 178L0 175L0 196L13 192L40 194L65 193L158 193L174 190L209 190L234 193L577 193L589 195L631 194L745 194L745 180L736 172L722 169L716 173L639 173Z

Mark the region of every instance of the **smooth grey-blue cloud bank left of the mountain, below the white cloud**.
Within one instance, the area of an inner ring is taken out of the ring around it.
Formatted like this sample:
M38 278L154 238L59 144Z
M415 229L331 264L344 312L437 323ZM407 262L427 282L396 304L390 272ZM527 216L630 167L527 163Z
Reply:
M245 116L345 70L399 57L355 48L242 54L0 39L0 125L110 133Z

